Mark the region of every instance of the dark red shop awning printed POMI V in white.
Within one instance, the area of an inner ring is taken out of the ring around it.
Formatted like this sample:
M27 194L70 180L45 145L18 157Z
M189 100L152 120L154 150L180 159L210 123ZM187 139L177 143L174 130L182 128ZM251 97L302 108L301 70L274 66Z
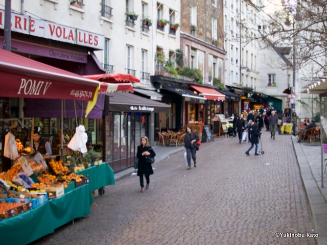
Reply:
M99 82L0 49L0 97L92 101Z

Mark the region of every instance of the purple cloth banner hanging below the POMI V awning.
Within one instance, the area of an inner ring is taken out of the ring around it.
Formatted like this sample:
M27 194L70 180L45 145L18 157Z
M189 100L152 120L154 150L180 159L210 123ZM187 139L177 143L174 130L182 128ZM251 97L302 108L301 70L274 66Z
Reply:
M104 94L98 94L96 106L88 114L87 118L101 119L104 106ZM75 118L74 101L64 101L64 118ZM87 101L75 101L77 118L85 118ZM61 118L61 100L51 99L26 99L26 117Z

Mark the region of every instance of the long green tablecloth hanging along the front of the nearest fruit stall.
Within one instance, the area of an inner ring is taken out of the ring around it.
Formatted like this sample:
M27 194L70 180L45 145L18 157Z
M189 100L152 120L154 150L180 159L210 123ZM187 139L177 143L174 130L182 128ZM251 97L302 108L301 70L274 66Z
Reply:
M94 201L89 186L71 190L25 213L0 220L1 245L28 244L74 218L90 214Z

